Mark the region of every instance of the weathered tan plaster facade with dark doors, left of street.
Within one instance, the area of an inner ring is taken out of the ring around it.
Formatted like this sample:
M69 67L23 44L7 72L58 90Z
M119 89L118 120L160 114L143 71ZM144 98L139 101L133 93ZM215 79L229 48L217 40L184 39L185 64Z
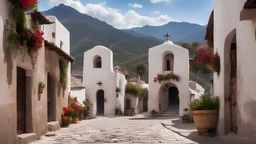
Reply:
M67 105L68 86L63 89L59 85L59 61L68 66L74 60L47 41L37 53L22 44L15 47L17 52L14 53L8 38L11 7L8 0L0 1L0 139L5 144L19 143L26 136L36 139L48 131L48 122L61 121L62 106ZM54 25L37 11L26 16L36 22L41 31L44 24ZM43 91L41 84L45 85Z

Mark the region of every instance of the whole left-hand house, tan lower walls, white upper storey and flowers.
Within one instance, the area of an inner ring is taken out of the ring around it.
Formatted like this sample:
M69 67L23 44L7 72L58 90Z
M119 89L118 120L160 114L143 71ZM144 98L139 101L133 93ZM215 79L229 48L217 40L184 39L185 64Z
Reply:
M74 61L69 55L69 32L56 18L49 20L32 9L21 12L27 23L15 21L15 2L19 1L0 1L0 139L4 144L29 143L59 129Z

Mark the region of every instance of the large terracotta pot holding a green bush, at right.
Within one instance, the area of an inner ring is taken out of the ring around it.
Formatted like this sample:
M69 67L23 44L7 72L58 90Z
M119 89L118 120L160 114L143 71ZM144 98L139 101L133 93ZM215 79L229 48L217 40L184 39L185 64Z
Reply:
M217 126L217 110L192 111L196 129L199 134L207 133Z

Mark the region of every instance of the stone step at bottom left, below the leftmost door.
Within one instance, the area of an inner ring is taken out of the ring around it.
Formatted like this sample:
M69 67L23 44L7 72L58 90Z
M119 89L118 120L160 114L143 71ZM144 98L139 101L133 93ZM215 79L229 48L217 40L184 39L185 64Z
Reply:
M37 140L37 135L35 133L24 133L17 135L17 144L29 144Z

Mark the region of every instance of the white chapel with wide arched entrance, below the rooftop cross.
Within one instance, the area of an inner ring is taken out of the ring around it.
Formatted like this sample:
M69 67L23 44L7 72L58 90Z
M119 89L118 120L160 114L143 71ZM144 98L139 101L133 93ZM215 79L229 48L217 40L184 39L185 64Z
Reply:
M183 116L184 108L188 108L189 94L189 53L188 50L171 41L149 49L149 99L148 112L162 112L169 107L179 107L179 115ZM180 77L179 81L170 80L162 84L155 83L157 74L173 72Z

